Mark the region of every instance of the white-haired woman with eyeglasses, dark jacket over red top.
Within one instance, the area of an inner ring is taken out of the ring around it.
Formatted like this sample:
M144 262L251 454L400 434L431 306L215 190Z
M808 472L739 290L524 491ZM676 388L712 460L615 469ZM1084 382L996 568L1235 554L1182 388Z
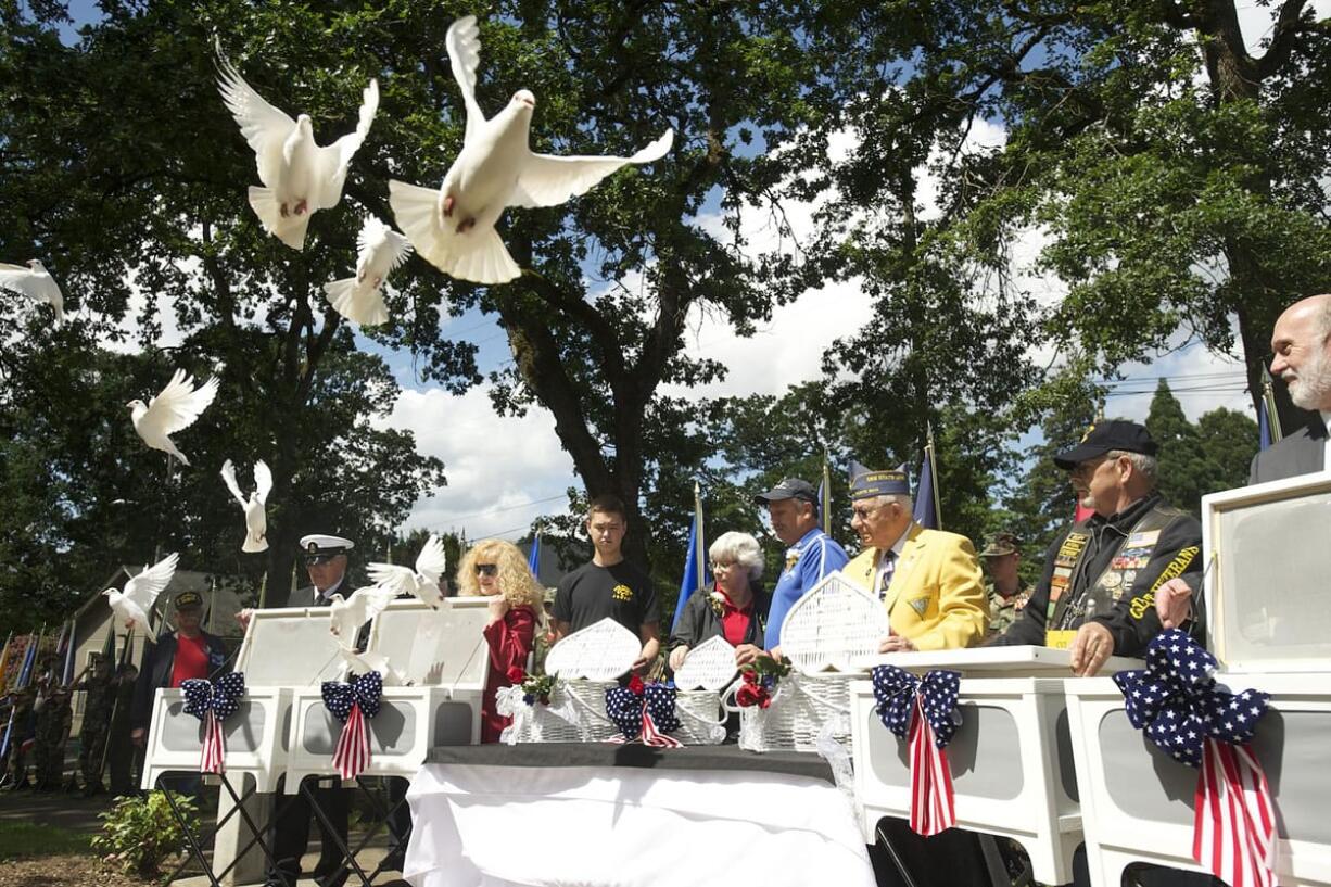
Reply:
M748 533L723 533L707 551L716 586L693 594L669 638L669 667L684 665L688 651L708 638L723 637L736 649L736 665L763 651L767 611L772 595L757 585L763 551Z

